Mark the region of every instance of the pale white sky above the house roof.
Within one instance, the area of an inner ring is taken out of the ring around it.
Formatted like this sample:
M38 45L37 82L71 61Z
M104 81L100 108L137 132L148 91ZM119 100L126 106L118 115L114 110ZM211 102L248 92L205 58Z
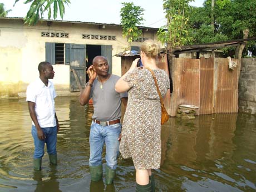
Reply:
M19 0L13 7L14 2L15 0L0 0L0 3L4 3L5 9L12 9L8 17L25 17L30 4L24 4L25 0ZM140 26L159 28L166 24L162 0L71 0L71 4L65 6L63 21L120 24L121 2L133 2L135 6L145 9L144 21ZM203 2L204 0L195 0L190 5L202 7ZM47 14L44 18L48 19ZM57 19L61 20L60 16Z

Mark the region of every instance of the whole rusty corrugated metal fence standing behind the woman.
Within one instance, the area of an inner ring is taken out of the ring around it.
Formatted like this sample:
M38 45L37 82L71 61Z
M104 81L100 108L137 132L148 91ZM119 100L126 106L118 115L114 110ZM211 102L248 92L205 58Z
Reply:
M174 58L170 115L178 105L199 106L197 115L238 112L238 80L240 61L234 70L228 58Z

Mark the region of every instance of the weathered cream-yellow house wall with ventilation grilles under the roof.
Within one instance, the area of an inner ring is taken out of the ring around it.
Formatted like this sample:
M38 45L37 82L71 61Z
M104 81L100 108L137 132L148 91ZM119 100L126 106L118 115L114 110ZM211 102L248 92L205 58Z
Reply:
M68 38L42 37L41 32L68 33ZM143 37L156 39L154 30L144 30ZM116 40L92 40L82 38L82 34L115 36ZM40 21L36 26L26 26L22 19L0 18L0 97L15 97L26 92L29 82L38 78L38 63L46 60L46 42L73 43L82 45L111 45L112 56L124 51L126 38L122 37L121 26L100 23L48 22ZM140 46L133 42L132 46ZM70 66L53 65L56 90L69 91ZM121 58L112 57L112 73L121 75Z

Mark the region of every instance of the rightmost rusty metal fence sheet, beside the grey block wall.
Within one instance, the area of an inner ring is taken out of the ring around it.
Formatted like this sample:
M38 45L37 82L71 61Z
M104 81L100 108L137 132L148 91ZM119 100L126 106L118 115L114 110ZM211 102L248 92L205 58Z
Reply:
M234 60L237 61L238 60ZM228 68L227 58L215 58L215 112L238 112L238 67Z

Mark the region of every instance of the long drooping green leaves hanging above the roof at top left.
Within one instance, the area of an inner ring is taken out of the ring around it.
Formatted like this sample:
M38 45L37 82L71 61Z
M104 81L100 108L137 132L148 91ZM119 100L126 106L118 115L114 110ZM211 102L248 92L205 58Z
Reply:
M20 0L15 0L15 4ZM28 25L35 25L40 18L43 17L43 13L48 11L48 19L51 18L53 8L53 18L57 18L58 11L63 19L65 13L65 4L71 3L70 0L26 0L25 4L31 3L31 6L27 12L27 16L24 18L24 23Z

